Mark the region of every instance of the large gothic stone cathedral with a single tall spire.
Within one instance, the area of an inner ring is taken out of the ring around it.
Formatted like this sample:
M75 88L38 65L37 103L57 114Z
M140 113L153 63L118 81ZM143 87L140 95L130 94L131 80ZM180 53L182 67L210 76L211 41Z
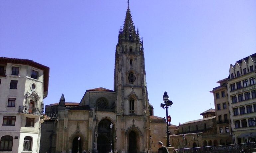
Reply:
M42 153L144 153L164 140L165 119L153 116L149 104L143 40L129 1L115 50L113 90L88 89L80 103L65 102L62 95L59 103L46 106L45 114Z

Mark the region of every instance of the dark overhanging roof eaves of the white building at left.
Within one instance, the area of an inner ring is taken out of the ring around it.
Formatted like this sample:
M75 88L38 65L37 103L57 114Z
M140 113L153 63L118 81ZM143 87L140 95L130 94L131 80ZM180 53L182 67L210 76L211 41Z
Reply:
M50 68L34 62L32 60L27 59L19 59L19 58L8 58L8 57L0 57L0 63L13 63L13 64L22 64L22 65L29 65L34 68L38 68L44 71L44 97L47 97L48 94L48 86L49 86L49 73Z

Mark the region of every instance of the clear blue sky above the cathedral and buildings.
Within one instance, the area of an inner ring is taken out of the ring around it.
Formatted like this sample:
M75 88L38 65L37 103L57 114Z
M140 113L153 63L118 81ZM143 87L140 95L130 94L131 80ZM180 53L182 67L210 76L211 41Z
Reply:
M80 102L87 89L113 90L115 45L127 0L1 0L0 56L50 67L45 105ZM144 41L154 113L168 92L172 124L214 107L216 81L256 52L255 0L130 0Z

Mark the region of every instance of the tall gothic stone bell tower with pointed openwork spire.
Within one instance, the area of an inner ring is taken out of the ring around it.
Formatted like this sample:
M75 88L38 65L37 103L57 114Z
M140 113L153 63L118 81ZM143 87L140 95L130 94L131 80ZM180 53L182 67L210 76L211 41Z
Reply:
M150 145L144 60L143 40L133 25L128 1L124 26L119 30L115 53L114 91L118 152L146 152Z

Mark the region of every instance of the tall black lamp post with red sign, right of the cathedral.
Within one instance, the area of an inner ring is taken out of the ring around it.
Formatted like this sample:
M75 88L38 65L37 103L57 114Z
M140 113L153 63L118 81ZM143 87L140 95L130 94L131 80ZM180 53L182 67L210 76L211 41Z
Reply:
M166 133L167 133L167 147L171 147L171 143L170 143L170 131L169 131L169 125L168 125L168 107L170 107L173 102L171 100L169 100L169 96L167 95L167 92L164 93L164 96L163 96L163 100L164 100L164 104L161 103L161 107L163 109L166 109Z

